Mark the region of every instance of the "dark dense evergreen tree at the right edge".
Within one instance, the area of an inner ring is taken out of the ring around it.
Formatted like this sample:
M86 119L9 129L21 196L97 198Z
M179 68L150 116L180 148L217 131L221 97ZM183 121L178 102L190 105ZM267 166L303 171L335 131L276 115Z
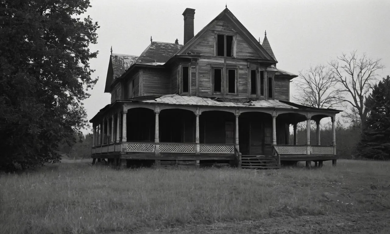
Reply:
M365 106L369 110L367 128L358 152L365 158L390 160L390 76L374 85Z

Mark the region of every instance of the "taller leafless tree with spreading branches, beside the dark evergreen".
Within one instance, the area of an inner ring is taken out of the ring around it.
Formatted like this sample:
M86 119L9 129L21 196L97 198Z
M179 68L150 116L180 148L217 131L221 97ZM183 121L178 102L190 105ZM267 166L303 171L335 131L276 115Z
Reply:
M360 128L363 131L369 111L364 106L365 99L372 85L376 83L376 71L385 66L381 64L381 59L373 60L365 53L359 57L356 51L349 55L343 53L341 57L337 57L337 60L332 60L329 65L340 85L340 94L346 95L345 98L337 97L337 99L349 103L356 110L355 113L360 117ZM353 112L351 114L353 115Z

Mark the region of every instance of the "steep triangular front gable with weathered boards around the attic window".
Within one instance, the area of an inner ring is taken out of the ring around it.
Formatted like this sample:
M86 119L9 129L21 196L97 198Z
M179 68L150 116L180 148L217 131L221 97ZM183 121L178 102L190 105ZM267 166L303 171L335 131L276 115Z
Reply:
M203 50L205 54L215 53L214 45L206 43L208 40L215 37L215 32L236 32L237 43L240 46L246 47L246 50L252 52L250 54L262 60L277 63L277 60L266 51L261 44L257 42L255 37L237 20L237 18L225 8L214 20L206 25L200 32L195 35L188 43L186 43L176 55L183 55L194 50L195 53ZM239 55L236 55L239 57Z

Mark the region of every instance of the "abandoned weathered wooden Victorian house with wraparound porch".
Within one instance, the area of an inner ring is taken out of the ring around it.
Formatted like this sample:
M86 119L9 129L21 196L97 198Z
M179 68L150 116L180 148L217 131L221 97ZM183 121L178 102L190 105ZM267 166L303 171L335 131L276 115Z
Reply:
M184 16L184 42L151 40L140 56L111 52L105 92L111 103L91 120L92 158L134 165L278 168L281 161L336 163L339 110L290 102L296 75L277 68L262 44L225 8L194 36L195 9ZM331 117L333 144L321 145L319 122ZM317 142L310 142L310 120ZM298 122L307 142L297 144ZM290 125L294 142L289 142Z

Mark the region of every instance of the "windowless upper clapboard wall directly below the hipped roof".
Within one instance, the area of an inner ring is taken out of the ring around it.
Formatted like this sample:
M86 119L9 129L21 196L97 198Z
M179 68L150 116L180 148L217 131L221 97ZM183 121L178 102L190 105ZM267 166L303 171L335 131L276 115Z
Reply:
M170 75L163 68L142 70L142 96L171 93Z

